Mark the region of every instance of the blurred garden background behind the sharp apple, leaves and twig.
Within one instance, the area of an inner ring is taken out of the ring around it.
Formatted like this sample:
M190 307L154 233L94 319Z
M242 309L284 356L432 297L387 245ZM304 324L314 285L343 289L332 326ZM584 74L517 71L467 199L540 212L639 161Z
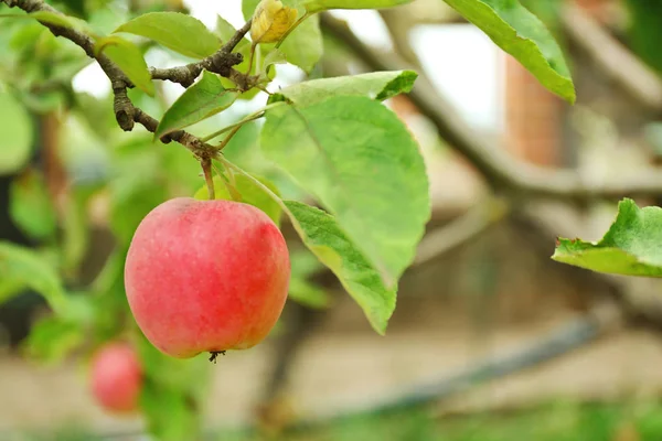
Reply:
M440 0L322 19L325 52L311 76L412 67L433 87L442 111L414 95L387 103L420 142L433 219L386 336L286 225L296 288L266 343L209 369L202 420L211 439L662 440L662 287L549 259L556 236L601 237L616 201L502 191L490 170L505 164L525 183L572 169L599 185L655 169L662 2L522 3L564 49L577 105L546 92ZM53 4L106 32L151 10L189 11L210 29L217 14L244 23L238 0ZM122 132L109 82L79 49L39 23L0 23L0 236L43 252L74 295L97 295L90 333L0 280L0 440L148 439L140 417L94 401L81 347L124 325L122 247L152 207L202 186L199 164L141 129ZM189 62L142 47L152 66ZM273 90L305 78L291 65L277 72ZM131 90L156 117L182 92L158 87L156 99ZM265 99L260 93L191 131L217 130ZM259 122L243 128L227 155L305 198L260 157L258 133ZM490 149L478 164L467 155L474 139ZM256 424L259 433L246 432Z

